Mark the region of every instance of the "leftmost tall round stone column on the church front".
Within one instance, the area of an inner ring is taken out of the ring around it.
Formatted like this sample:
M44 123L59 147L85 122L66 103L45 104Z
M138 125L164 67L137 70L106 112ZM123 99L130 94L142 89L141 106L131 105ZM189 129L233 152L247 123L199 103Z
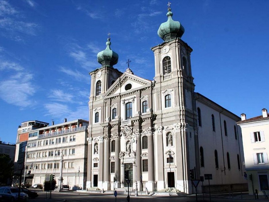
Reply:
M103 189L104 190L110 190L110 137L108 134L104 135L105 139L105 159L104 159L104 170L105 170L105 176L104 176L104 184Z

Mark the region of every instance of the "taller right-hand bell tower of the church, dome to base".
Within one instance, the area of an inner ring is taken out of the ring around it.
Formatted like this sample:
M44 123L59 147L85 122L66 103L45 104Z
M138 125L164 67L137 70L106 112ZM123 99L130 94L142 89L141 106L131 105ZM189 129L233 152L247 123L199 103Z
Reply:
M157 164L162 164L162 156L174 153L177 168L173 172L165 170L156 180L158 189L167 186L162 181L170 185L176 181L188 193L191 187L189 170L199 167L198 136L194 135L197 134L197 123L190 60L192 48L181 39L185 30L180 22L172 19L170 4L168 3L167 21L160 25L157 32L163 43L151 50L155 57L155 127L161 131L155 138L157 142L168 137L173 137L175 141L171 151L158 149L156 161ZM163 144L166 145L165 142ZM196 176L198 174L199 170Z

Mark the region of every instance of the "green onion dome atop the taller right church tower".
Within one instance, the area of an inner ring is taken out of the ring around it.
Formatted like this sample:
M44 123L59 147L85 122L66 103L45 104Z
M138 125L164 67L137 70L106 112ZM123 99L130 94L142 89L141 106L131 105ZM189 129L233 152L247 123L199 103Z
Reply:
M161 37L164 41L171 41L175 38L181 38L184 34L184 27L180 22L174 21L172 19L173 13L171 12L171 8L168 7L167 12L167 21L162 23L158 30L158 35Z

